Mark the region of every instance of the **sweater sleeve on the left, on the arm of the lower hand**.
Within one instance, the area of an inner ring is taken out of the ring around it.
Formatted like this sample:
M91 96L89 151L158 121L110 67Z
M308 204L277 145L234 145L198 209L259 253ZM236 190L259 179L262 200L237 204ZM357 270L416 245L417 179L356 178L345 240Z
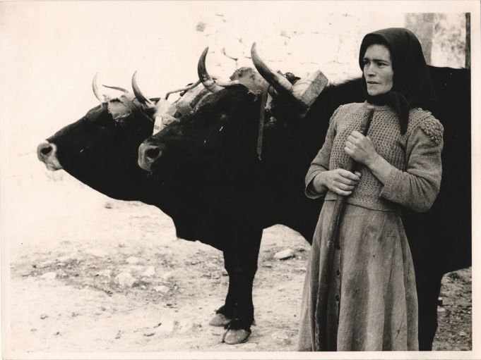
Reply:
M314 180L317 174L329 170L329 159L331 158L331 149L333 147L333 140L335 137L335 119L341 107L342 105L335 109L333 116L331 116L324 144L322 145L321 150L319 150L314 160L311 162L309 170L307 170L307 175L305 179L306 187L304 192L306 196L309 197L309 199L317 199L324 194L316 192L314 190L312 180Z

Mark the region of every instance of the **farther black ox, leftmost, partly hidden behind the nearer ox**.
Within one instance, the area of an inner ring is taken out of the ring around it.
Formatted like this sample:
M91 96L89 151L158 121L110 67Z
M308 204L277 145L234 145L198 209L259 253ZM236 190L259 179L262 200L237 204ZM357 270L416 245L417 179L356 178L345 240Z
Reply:
M251 69L239 69L232 75L234 81L223 85L241 83L256 92L266 82L261 77L253 77L253 73ZM100 105L39 144L37 156L49 170L63 169L109 197L157 206L174 219L177 229L182 229L179 233L189 238L188 231L198 233L202 219L196 217L194 211L186 212L179 206L182 197L166 192L157 178L138 167L138 147L152 135L158 113L164 120L172 121L199 101L210 97L209 90L196 84L179 89L184 91L182 98L169 106L162 99L144 97L136 85L135 74L132 87L133 92L112 87L121 94L109 98L100 94L95 75L93 92ZM197 223L198 227L194 230ZM210 225L215 228L215 223ZM227 229L219 231L215 241L221 244L225 241L221 239L222 235L227 233ZM215 318L215 321L222 319Z

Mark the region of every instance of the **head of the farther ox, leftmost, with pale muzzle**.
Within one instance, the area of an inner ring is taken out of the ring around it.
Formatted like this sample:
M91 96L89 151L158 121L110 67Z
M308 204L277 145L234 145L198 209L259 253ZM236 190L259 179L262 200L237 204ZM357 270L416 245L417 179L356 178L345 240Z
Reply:
M38 145L37 156L49 170L64 169L85 184L113 197L127 192L137 168L138 146L152 134L155 102L143 96L132 78L133 92L119 97L100 94L95 75L93 92L100 105L91 108ZM117 193L117 194L115 194Z

